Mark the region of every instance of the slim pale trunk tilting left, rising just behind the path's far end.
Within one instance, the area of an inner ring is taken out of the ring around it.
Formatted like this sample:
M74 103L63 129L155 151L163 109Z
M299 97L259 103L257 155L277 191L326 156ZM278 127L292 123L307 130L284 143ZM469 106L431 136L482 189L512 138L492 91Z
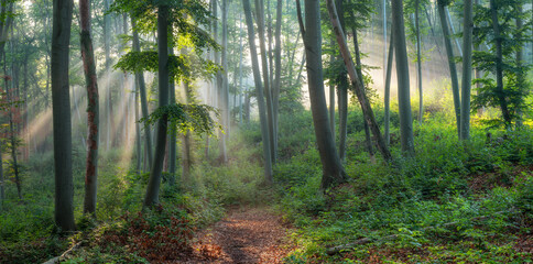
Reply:
M272 185L273 183L272 154L271 154L270 142L269 142L270 135L269 135L269 127L266 121L266 107L264 106L263 86L261 84L261 74L259 72L259 62L258 62L258 51L255 48L255 34L253 33L252 11L251 11L249 0L242 0L242 6L243 6L244 16L246 16L247 28L248 28L248 42L250 44L250 56L252 59L253 80L255 84L255 92L258 98L259 121L261 123L261 138L263 141L263 157L264 157L264 180L266 182L266 184Z

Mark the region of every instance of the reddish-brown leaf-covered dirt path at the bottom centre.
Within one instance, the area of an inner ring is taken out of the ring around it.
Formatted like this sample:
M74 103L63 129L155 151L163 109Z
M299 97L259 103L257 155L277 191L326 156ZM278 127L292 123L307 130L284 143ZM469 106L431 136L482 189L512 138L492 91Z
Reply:
M186 263L282 263L292 250L286 234L281 218L269 209L233 209L198 233L194 249L203 260Z

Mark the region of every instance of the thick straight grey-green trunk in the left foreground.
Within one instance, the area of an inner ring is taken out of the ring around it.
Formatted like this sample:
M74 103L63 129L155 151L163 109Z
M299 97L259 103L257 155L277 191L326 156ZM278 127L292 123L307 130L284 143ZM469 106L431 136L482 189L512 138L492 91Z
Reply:
M55 223L61 231L74 231L74 185L72 172L70 98L68 61L72 0L54 0L52 30L52 114L54 124Z

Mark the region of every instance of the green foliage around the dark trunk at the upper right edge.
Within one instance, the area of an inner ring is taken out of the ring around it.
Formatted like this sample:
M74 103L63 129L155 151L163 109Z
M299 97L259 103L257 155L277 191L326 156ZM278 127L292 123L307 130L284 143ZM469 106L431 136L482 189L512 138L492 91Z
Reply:
M520 120L521 114L531 110L531 106L525 102L525 98L531 94L531 85L525 80L531 65L525 61L518 62L516 53L523 48L525 43L531 41L526 32L531 30L533 21L530 11L521 11L518 8L524 6L525 1L494 0L494 2L499 20L498 26L500 28L499 40L497 40L494 33L491 9L480 4L475 7L474 23L477 26L474 29L474 42L476 45L488 44L490 46L488 46L488 51L475 51L472 54L474 67L485 73L482 78L474 79L479 88L476 89L477 94L472 97L472 110L482 107L499 108L502 103L501 100L505 100L510 120L490 120L490 124L500 125L503 123L509 127L510 121ZM521 29L516 28L514 22L519 18L524 21ZM498 89L494 79L497 75L497 41L501 41L502 47L502 90Z

